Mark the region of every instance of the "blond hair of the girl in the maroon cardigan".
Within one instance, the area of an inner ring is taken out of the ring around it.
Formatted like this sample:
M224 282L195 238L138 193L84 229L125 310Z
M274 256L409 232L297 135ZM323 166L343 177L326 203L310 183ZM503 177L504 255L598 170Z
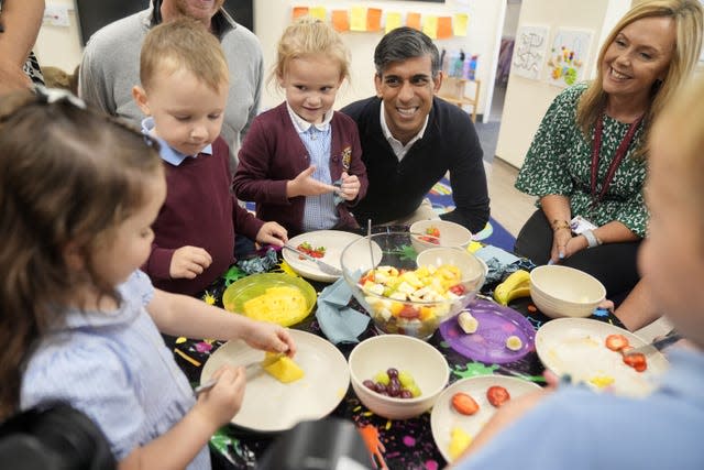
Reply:
M337 61L340 66L340 80L350 80L350 51L340 34L329 24L310 17L299 18L284 31L278 41L276 64L270 80L286 76L293 59L311 54L326 54Z

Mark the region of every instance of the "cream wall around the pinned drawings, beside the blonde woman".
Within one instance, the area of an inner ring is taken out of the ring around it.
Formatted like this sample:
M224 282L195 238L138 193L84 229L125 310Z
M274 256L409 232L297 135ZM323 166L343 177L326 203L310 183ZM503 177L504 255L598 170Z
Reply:
M558 26L592 30L594 34L585 69L585 76L591 77L603 39L629 7L630 0L524 0L518 28L524 24L550 26L549 45ZM543 67L541 79L546 74L548 68ZM509 76L496 156L514 166L522 165L540 120L561 90L544 81Z

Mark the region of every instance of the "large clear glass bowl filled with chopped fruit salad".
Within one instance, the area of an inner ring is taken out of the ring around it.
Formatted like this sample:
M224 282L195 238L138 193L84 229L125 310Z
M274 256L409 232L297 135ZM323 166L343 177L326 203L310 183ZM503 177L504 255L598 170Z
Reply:
M420 339L470 304L484 283L482 262L466 250L452 258L418 260L409 232L387 232L350 243L340 260L342 275L376 329ZM477 275L465 275L476 266Z

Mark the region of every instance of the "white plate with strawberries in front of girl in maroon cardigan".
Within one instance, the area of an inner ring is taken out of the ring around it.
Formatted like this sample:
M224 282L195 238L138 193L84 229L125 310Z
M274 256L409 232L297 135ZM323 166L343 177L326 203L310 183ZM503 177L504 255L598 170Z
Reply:
M294 247L298 247L305 241L310 243L314 248L324 247L326 254L320 260L342 270L342 266L340 265L342 250L344 250L348 244L361 238L362 237L359 234L343 232L340 230L318 230L315 232L301 233L298 237L292 238L288 242ZM301 260L298 254L290 250L284 249L283 253L284 260L290 264L294 271L304 277L322 282L336 282L340 277L323 273L316 263L310 260Z

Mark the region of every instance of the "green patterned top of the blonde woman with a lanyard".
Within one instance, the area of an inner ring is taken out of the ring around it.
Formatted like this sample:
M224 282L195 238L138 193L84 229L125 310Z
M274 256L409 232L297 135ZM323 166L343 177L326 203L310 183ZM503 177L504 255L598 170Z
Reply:
M586 84L578 84L566 88L552 101L518 173L516 188L539 198L551 194L568 196L572 217L582 216L598 227L618 220L637 236L645 237L648 210L642 198L642 186L647 162L632 159L644 134L644 124L636 131L604 198L592 207L592 139L584 139L576 124L576 107L585 89ZM602 190L608 165L628 128L629 124L604 116L597 194Z

